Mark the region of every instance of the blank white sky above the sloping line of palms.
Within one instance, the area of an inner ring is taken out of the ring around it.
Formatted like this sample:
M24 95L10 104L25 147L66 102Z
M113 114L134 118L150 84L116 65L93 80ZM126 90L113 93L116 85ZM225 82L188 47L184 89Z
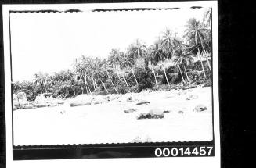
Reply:
M203 20L205 10L11 13L13 81L71 68L81 55L106 58L136 39L153 45L167 27L182 37L187 20Z

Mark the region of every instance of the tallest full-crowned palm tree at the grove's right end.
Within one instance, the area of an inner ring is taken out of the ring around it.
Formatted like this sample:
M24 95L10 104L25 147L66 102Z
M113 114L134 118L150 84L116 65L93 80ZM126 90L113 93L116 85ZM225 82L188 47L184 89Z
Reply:
M204 64L200 55L200 48L202 48L203 52L206 54L205 46L207 45L207 43L205 41L205 38L207 37L209 32L210 31L205 27L203 23L200 23L199 20L196 20L195 18L193 18L193 19L190 19L186 24L186 30L184 34L186 41L189 41L189 46L194 46L197 48L197 55L199 55L200 57L200 62L204 72L204 77L206 77L206 74L204 70ZM211 66L208 59L207 59L207 63L211 71Z

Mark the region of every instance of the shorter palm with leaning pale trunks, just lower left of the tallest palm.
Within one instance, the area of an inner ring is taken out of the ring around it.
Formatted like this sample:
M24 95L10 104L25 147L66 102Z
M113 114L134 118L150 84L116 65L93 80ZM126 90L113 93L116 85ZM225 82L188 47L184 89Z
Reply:
M176 52L175 52L175 56L174 56L174 63L175 65L178 66L178 70L180 71L181 75L182 75L182 70L180 68L180 65L183 66L185 73L186 73L186 78L189 81L189 85L190 80L189 80L189 76L186 72L186 66L185 65L189 65L189 63L193 63L193 58L189 55L189 52L187 52L186 48L184 46L181 46L181 48L179 48ZM182 80L184 82L184 84L186 84L186 81L184 80L184 77L182 75Z

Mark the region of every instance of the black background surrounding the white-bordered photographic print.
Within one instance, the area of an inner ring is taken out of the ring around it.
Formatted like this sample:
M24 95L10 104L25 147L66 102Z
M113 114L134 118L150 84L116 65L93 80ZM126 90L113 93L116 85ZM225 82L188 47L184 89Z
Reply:
M3 4L20 3L87 3L124 1L85 0L13 0ZM164 2L164 1L125 1ZM220 124L222 167L247 167L254 161L256 132L254 109L250 109L254 91L254 41L256 9L253 1L218 1L218 55L220 87ZM2 40L2 6L0 9L0 167L5 167L5 93ZM251 102L250 102L251 100ZM252 153L249 153L251 150ZM246 158L246 159L245 159ZM251 164L250 166L254 166Z

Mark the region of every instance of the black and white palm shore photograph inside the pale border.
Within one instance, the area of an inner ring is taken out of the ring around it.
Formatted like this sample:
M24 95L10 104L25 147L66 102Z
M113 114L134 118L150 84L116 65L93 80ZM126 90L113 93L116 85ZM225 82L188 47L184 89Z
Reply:
M14 148L214 145L212 6L142 4L9 10Z

